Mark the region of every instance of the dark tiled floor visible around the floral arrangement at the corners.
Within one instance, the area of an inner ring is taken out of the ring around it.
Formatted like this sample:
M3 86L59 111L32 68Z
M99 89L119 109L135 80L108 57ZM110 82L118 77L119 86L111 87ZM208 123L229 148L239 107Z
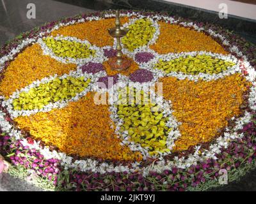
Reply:
M66 3L62 3L62 2ZM72 2L72 4L67 4ZM138 1L139 2L139 1ZM28 19L26 13L28 11L27 4L35 3L36 18ZM125 6L113 6L104 1L93 0L0 0L0 47L6 41L12 40L18 34L29 31L33 27L42 25L45 22L58 20L63 17L74 16L79 13L91 13L95 10L126 8ZM255 36L247 33L240 33L247 40L256 43ZM255 171L246 175L241 182L229 184L220 190L256 190ZM15 179L8 174L0 177L0 191L40 191L40 188L29 185L20 179Z

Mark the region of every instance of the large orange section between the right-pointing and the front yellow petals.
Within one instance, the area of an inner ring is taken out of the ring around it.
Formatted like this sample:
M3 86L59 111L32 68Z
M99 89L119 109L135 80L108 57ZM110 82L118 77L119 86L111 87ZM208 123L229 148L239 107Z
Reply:
M174 77L161 78L161 82L164 98L172 101L173 115L182 122L174 151L211 142L220 135L221 128L228 125L227 120L241 113L243 94L250 85L239 74L211 82Z

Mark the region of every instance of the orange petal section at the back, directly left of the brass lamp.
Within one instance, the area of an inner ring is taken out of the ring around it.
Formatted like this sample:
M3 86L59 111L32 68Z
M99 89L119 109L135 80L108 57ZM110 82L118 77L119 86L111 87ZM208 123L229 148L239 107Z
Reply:
M120 18L121 24L128 22L129 18ZM81 40L88 40L93 45L104 47L106 45L113 46L113 37L108 33L108 29L115 27L115 18L102 20L92 20L74 25L60 27L56 31L52 31L52 36L62 34L63 36L72 36Z

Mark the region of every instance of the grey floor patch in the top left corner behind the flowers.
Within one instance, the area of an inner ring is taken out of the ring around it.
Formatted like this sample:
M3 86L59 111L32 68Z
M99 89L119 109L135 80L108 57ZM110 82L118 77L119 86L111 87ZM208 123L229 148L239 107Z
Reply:
M27 18L27 4L35 3L36 18ZM51 0L0 0L0 45L45 22L93 10Z

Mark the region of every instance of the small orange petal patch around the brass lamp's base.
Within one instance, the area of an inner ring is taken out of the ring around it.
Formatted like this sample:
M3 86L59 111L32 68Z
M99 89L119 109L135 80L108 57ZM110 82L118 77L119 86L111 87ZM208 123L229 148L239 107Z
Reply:
M129 66L129 68L125 69L125 70L113 70L111 68L111 66L109 65L108 61L103 63L104 69L106 69L106 72L108 73L108 75L116 75L118 73L120 73L121 75L125 75L125 76L129 76L131 75L131 73L133 73L134 71L136 71L137 69L139 69L139 66L136 62L134 62L131 58L127 57L124 55L124 58L131 60L131 66Z

